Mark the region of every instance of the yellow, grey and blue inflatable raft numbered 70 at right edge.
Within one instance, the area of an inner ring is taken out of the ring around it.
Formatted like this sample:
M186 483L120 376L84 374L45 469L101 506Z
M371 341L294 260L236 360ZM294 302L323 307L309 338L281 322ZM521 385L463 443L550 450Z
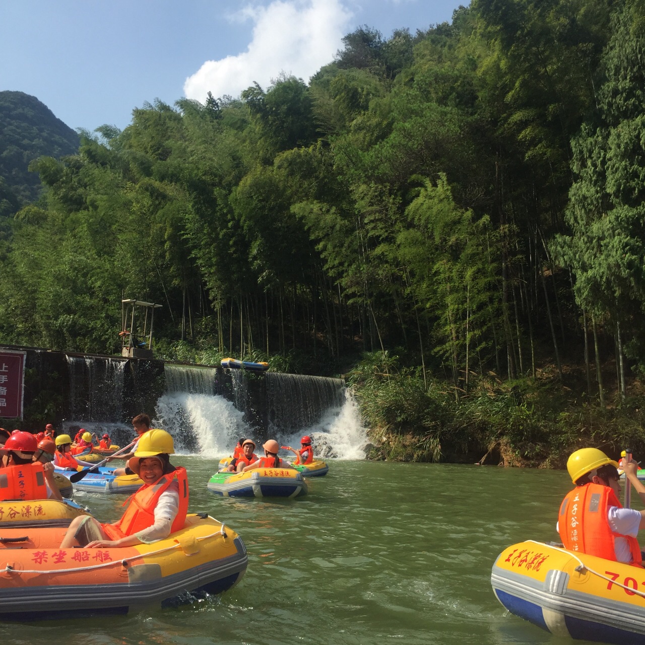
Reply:
M508 611L557 636L645 644L645 570L528 540L502 551L491 584Z

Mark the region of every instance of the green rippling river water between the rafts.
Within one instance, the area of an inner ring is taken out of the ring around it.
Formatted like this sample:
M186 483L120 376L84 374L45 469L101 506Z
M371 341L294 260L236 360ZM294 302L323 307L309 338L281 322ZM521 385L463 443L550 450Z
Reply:
M295 500L222 499L215 459L179 456L192 511L244 539L236 588L192 606L110 619L0 624L15 645L181 643L515 644L555 639L509 615L490 586L495 557L527 538L557 539L566 472L452 464L331 461ZM77 494L103 521L123 497ZM580 641L579 641L580 642Z

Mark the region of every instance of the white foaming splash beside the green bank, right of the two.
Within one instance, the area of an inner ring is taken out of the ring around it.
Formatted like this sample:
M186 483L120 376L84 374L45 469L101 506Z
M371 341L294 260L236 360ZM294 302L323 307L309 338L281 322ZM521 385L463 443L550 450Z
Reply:
M323 459L365 459L367 430L361 421L359 406L349 390L344 392L341 408L329 410L321 421L297 434L281 435L278 442L293 448L300 446L303 435L313 440L313 453Z

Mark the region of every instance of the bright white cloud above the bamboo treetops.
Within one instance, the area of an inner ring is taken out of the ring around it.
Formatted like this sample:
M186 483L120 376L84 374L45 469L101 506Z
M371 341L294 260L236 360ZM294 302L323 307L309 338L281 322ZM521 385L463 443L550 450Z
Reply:
M206 61L184 83L189 99L240 92L257 81L266 88L280 72L305 81L330 63L342 46L352 17L341 0L274 0L268 6L247 6L237 19L253 21L253 37L246 52Z

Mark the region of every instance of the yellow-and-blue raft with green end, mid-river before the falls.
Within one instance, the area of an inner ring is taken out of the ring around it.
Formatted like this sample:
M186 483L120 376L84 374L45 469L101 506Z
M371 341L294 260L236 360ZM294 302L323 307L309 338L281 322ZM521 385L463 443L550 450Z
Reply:
M255 468L245 473L215 473L208 490L223 497L297 497L307 483L293 468Z

